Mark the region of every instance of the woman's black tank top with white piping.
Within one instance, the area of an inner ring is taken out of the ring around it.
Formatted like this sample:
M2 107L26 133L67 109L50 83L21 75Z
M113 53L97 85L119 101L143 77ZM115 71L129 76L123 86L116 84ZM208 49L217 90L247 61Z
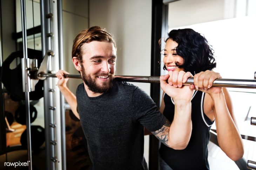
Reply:
M192 134L188 146L183 150L175 150L161 143L160 156L173 170L209 169L207 145L213 121L204 114L204 95L202 91L195 91L191 100ZM174 118L174 101L167 94L164 94L164 104L163 114L172 122Z

